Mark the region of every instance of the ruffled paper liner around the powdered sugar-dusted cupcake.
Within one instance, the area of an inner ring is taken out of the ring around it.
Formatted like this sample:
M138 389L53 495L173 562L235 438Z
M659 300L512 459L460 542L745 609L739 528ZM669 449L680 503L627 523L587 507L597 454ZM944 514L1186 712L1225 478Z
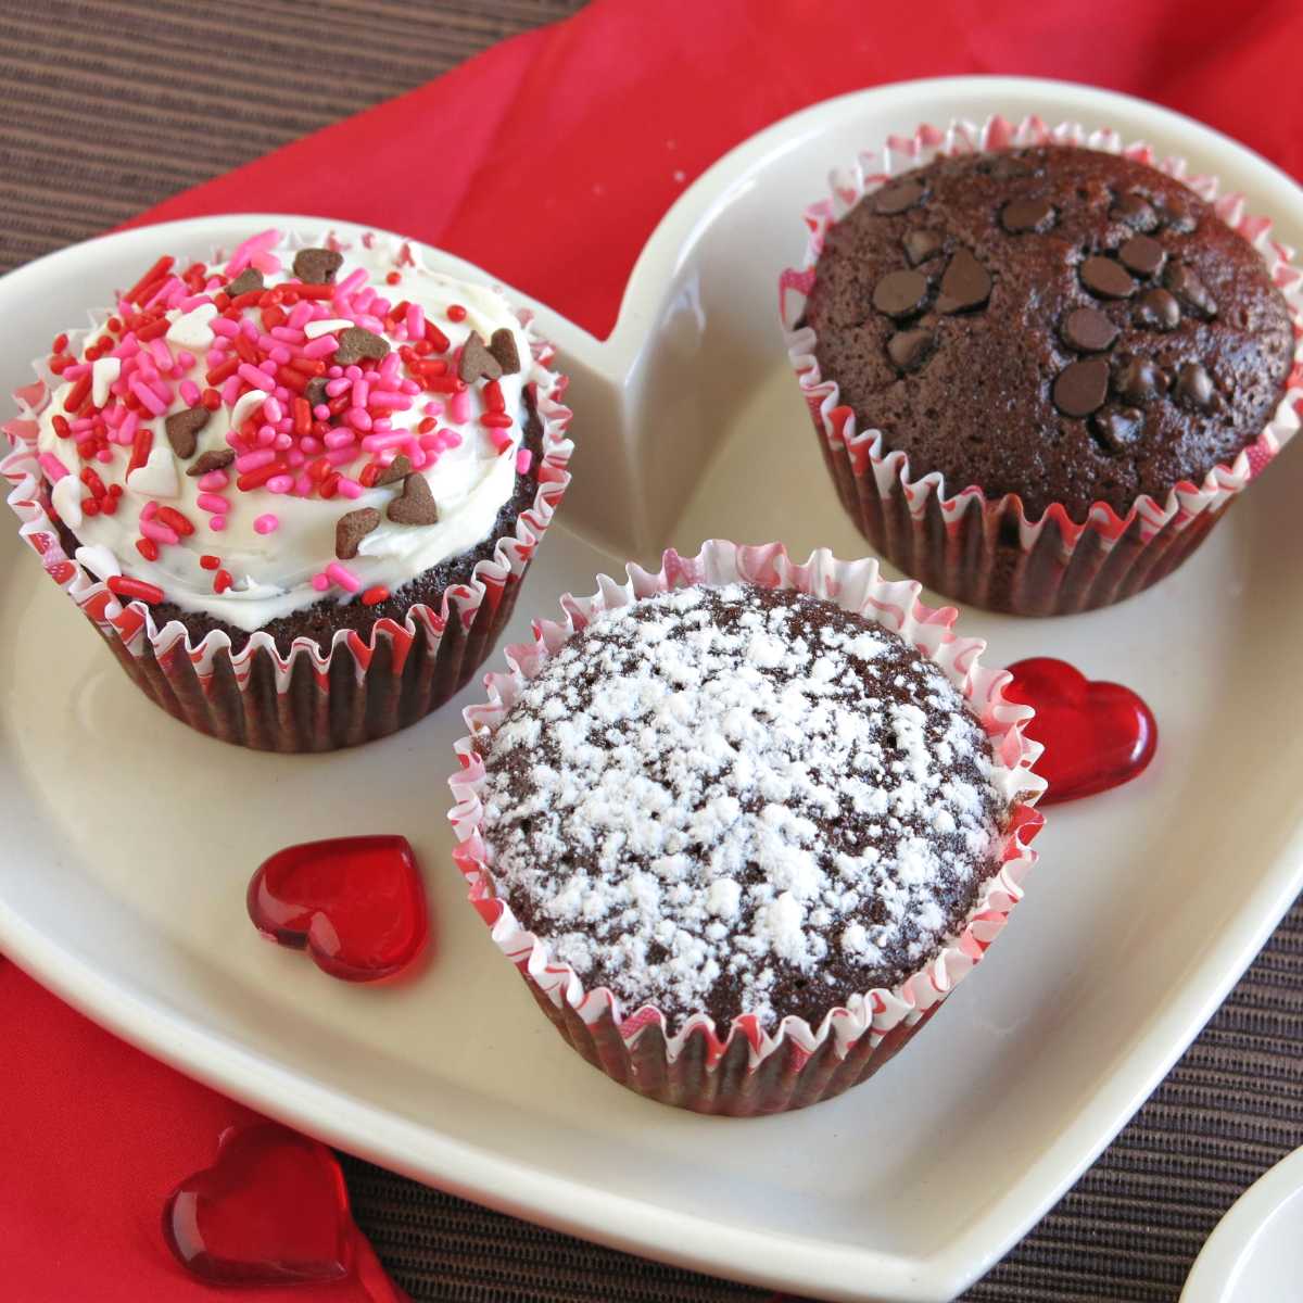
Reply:
M483 837L483 745L549 658L601 611L691 584L737 580L834 601L917 648L959 688L986 730L995 757L994 782L1010 808L993 855L999 866L938 954L893 990L851 997L846 1006L830 1010L817 1029L800 1018L783 1018L767 1029L744 1014L721 1035L704 1012L676 1029L653 1005L627 1014L618 995L605 986L585 989L569 964L551 956L546 941L521 928L496 895L494 852ZM624 584L599 576L593 597L562 598L564 618L536 622L533 642L507 649L507 672L486 676L487 702L464 711L470 735L456 744L461 771L450 779L456 800L450 817L457 840L453 859L466 878L470 903L567 1044L612 1080L662 1104L737 1117L831 1098L887 1062L1003 929L1036 863L1028 843L1042 823L1032 807L1045 782L1031 769L1041 747L1023 734L1033 711L1005 700L1009 671L979 665L985 644L955 635L958 612L925 606L919 590L912 580L882 579L876 559L843 562L827 550L813 552L804 564L791 560L780 543L745 547L717 539L692 558L667 551L658 573L629 566Z

